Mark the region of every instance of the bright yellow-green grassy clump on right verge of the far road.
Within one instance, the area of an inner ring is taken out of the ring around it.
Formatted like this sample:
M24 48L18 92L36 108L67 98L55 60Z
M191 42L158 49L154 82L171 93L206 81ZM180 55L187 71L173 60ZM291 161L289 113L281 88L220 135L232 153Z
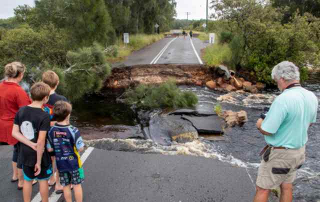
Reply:
M228 44L213 44L207 46L204 50L204 61L209 66L217 66L219 64L230 65L232 52Z

